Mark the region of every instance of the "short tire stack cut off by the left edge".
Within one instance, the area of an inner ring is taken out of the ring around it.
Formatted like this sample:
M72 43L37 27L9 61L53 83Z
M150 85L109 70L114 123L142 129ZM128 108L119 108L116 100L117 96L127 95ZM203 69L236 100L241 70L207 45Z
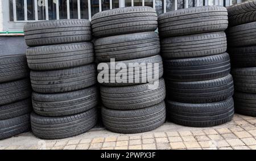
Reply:
M28 132L31 109L26 55L0 56L0 140Z

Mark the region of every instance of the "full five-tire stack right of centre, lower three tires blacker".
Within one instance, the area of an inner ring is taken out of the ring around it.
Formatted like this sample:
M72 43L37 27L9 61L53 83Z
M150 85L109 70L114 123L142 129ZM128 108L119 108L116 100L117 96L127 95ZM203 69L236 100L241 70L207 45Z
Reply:
M233 79L226 52L225 7L192 7L159 15L167 117L206 127L232 119Z

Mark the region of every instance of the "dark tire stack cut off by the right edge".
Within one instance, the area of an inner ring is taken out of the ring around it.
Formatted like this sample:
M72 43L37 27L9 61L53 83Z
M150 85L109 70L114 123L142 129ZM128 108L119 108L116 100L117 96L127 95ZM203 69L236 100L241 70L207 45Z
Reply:
M256 116L256 1L228 7L235 111Z

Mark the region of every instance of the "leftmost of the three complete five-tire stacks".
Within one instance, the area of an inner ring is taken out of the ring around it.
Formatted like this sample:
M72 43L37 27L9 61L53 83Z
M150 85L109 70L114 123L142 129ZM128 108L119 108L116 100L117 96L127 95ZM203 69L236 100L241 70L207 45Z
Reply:
M97 122L96 65L88 20L49 20L24 26L31 69L32 132L59 139Z

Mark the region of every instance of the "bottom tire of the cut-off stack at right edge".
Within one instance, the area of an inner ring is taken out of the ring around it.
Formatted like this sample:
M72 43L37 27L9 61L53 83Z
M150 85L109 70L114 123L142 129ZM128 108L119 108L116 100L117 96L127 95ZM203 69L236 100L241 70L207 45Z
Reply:
M236 91L234 93L235 112L256 117L256 94Z

